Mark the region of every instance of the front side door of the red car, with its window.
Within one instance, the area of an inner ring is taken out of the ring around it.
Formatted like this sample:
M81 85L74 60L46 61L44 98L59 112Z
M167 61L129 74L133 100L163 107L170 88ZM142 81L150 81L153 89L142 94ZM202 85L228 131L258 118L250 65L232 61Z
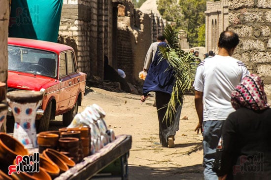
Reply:
M58 103L59 111L69 108L70 96L71 96L71 80L68 75L67 68L67 52L60 54L59 61L59 80L60 80L60 97Z

